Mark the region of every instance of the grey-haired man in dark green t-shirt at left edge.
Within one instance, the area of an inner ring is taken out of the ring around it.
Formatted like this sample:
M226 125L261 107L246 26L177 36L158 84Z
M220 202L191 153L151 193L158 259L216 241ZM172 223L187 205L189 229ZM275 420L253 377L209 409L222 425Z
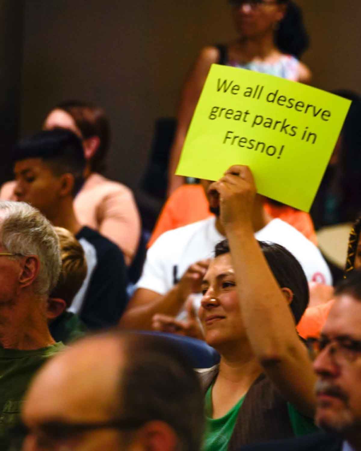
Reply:
M47 324L48 296L60 273L50 222L24 202L0 202L0 449L19 419L38 368L59 350Z

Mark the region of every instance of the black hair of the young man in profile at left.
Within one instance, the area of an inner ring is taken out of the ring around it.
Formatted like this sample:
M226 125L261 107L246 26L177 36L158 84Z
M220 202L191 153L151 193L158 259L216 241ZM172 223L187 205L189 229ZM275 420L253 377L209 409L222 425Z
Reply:
M81 188L85 158L83 145L75 133L67 129L45 130L24 138L14 147L14 162L28 158L42 158L55 175L74 176L73 195Z

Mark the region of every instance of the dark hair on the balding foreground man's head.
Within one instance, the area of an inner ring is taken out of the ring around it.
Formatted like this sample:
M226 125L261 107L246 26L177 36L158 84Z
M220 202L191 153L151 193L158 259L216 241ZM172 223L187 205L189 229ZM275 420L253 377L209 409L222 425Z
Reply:
M204 397L189 359L167 338L123 336L126 361L121 369L120 412L143 423L163 421L179 438L177 450L200 450Z

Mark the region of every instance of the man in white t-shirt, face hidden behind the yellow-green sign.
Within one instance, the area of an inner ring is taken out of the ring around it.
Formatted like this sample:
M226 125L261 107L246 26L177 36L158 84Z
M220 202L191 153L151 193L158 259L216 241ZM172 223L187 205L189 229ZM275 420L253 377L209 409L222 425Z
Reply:
M120 319L120 326L135 329L152 328L156 313L177 315L200 283L213 257L214 246L225 238L219 220L218 193L213 182L202 180L209 208L215 217L195 222L161 235L149 248L137 290ZM308 281L332 284L332 276L319 249L294 227L272 219L257 196L253 212L255 237L281 244L301 263Z

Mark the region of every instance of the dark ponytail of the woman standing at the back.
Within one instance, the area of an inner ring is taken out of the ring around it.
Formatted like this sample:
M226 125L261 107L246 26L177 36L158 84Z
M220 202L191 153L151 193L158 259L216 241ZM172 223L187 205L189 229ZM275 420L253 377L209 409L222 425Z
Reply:
M285 4L287 10L275 32L275 44L282 53L300 58L310 44L303 22L302 10L292 0L278 0L278 3Z

